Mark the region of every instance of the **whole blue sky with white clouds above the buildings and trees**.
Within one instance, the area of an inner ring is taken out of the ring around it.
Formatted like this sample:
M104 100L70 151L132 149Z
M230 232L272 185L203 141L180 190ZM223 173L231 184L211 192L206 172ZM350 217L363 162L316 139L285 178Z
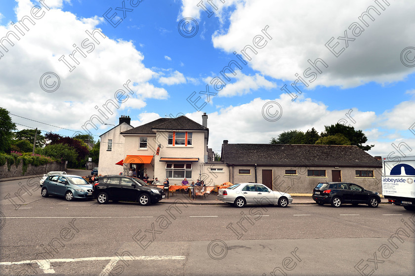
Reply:
M218 153L340 122L373 156L415 155L414 12L412 0L0 0L0 107L19 130L96 140L123 115L206 112Z

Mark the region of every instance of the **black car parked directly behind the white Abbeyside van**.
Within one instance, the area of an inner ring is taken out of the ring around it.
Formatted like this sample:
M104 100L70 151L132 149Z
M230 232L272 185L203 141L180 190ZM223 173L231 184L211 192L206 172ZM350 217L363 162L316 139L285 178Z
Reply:
M333 207L351 203L353 205L368 204L369 207L376 208L380 203L379 193L345 182L319 183L313 190L313 199L319 205L330 203Z

